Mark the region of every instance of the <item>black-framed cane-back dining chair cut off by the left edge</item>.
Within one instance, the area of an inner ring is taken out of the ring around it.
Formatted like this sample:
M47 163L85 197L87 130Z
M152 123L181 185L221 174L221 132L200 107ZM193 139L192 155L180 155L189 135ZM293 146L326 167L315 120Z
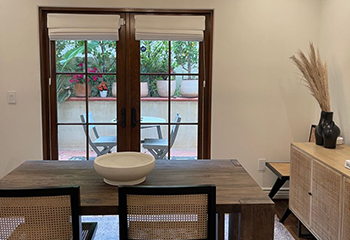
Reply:
M0 239L93 239L97 223L81 224L79 208L79 187L0 189Z

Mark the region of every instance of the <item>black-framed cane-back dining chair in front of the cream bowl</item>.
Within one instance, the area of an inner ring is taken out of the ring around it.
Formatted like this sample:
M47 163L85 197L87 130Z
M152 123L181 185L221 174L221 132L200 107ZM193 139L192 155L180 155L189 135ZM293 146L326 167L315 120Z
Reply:
M121 186L118 191L121 240L215 239L215 186Z

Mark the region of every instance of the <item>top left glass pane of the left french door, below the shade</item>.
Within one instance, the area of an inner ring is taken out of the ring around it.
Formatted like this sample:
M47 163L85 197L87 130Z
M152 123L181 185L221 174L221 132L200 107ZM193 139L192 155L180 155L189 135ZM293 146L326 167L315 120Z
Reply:
M56 41L56 72L76 73L85 71L84 41Z

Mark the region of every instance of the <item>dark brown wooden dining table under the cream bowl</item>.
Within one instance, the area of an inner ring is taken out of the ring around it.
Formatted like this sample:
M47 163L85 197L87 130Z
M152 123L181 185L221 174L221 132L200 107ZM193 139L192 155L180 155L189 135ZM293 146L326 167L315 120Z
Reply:
M93 164L25 161L0 180L0 189L80 186L81 215L116 215L118 187L104 183ZM198 184L216 186L217 239L224 239L227 219L229 239L273 239L274 203L235 159L156 160L155 168L141 185Z

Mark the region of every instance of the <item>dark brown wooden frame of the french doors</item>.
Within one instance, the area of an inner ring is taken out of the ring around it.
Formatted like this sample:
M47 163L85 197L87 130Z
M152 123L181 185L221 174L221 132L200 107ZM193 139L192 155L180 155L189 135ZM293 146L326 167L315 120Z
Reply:
M199 96L199 109L198 113L203 116L202 119L198 119L198 121L202 121L201 129L198 129L198 158L199 159L210 159L211 158L211 89L212 89L212 54L213 54L213 10L179 10L179 9L132 9L132 8L66 8L66 7L39 7L39 41L40 41L40 78L41 78L41 111L42 111L42 147L43 147L43 159L52 159L52 145L51 142L51 121L48 116L50 116L50 109L56 106L56 103L50 102L50 86L49 86L49 78L50 74L50 40L48 37L48 29L47 29L47 14L48 13L85 13L85 14L126 14L126 23L130 26L129 14L128 13L153 13L153 14L177 14L177 15L204 15L206 16L206 30L204 32L204 43L203 46L205 48L205 71L201 68L199 71L204 72L204 74L200 74L204 76L205 79L205 88L203 88L203 81L199 81L199 89L200 92L204 91L203 94ZM130 30L131 29L131 30ZM133 36L133 28L130 26L125 29L126 42L132 43L129 41ZM132 63L130 54L134 54L133 51L135 49L129 48L126 46L125 48L125 58L126 58L126 66L125 70L135 69L135 65L137 63ZM139 66L139 63L138 63ZM138 68L139 69L139 68ZM124 73L125 74L125 73ZM132 75L132 74L131 74ZM131 79L131 75L125 74L124 77L126 79L126 90L129 91L132 87L132 82L136 81L135 78ZM138 81L139 82L139 81ZM119 90L118 90L119 91ZM138 90L139 91L139 90ZM136 96L137 93L135 93ZM139 94L137 97L139 98ZM204 97L204 99L201 99ZM51 105L50 105L51 103ZM126 102L123 103L126 108L126 116L127 119L130 119L131 108L136 107L140 109L140 101L131 101L127 99ZM203 105L202 105L203 104ZM55 106L53 106L55 105ZM119 103L118 103L119 105ZM201 106L202 105L202 106ZM119 106L118 106L119 108ZM203 112L202 112L203 111ZM117 112L118 117L120 117L120 111ZM139 111L137 111L138 119ZM198 116L201 116L199 115ZM138 125L137 128L131 129L131 122L126 121L126 128L124 134L128 136L132 136L133 139L140 137L140 127ZM118 126L119 128L119 126ZM137 132L138 130L138 132ZM118 129L119 131L119 129ZM130 134L130 135L129 135ZM131 139L132 139L131 138ZM139 139L139 138L138 138ZM119 140L119 136L118 136ZM118 141L118 144L120 141ZM57 144L57 143L56 143ZM136 141L129 141L124 143L126 148L136 149L137 145L139 148L139 143L136 144ZM201 148L201 151L199 151Z

